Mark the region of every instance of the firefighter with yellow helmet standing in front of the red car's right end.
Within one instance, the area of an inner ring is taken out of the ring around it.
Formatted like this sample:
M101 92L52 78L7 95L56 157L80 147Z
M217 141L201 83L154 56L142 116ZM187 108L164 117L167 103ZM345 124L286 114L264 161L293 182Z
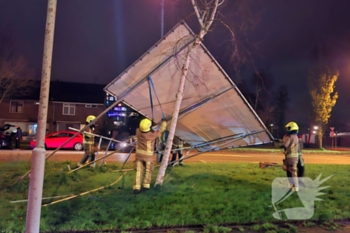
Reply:
M93 115L89 115L86 118L86 125L90 124L93 120L95 120L96 117ZM95 146L95 137L94 135L88 134L93 133L95 131L95 125L90 125L90 128L86 131L87 133L83 133L84 138L84 156L81 158L80 162L78 163L78 167L83 166L86 161L89 159L89 162L92 162L95 160L95 152L96 152L96 146Z

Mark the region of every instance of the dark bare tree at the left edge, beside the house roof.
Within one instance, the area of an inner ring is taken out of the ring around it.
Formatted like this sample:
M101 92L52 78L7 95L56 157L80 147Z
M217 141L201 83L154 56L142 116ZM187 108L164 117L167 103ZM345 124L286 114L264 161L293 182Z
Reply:
M6 98L30 94L36 86L34 70L14 49L14 43L0 38L0 103Z

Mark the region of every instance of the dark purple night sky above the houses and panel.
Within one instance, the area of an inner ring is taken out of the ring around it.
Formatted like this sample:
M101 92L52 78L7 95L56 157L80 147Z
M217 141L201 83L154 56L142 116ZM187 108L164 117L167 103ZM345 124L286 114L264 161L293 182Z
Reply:
M230 0L231 1L231 0ZM189 0L165 0L167 33L180 19L197 32ZM350 1L265 0L260 21L249 40L255 65L271 73L275 87L289 88L287 120L305 121L303 103L310 51L330 43L340 71L339 100L332 122L350 124ZM47 1L0 0L0 34L11 36L16 48L41 74ZM59 0L57 4L52 80L107 84L160 39L161 0ZM193 17L192 17L193 19ZM188 20L188 21L187 21ZM206 46L225 64L220 46L225 38L208 34ZM227 63L227 62L226 62ZM229 67L223 67L230 75ZM253 70L242 68L243 79Z

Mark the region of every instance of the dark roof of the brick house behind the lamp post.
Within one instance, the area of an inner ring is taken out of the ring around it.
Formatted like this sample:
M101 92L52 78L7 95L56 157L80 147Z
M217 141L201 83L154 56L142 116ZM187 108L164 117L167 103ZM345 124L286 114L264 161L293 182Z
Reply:
M106 93L103 88L105 85L93 83L75 83L51 81L50 83L50 101L73 102L73 103L92 103L103 104ZM38 81L32 93L21 96L12 96L11 99L40 99L40 81Z

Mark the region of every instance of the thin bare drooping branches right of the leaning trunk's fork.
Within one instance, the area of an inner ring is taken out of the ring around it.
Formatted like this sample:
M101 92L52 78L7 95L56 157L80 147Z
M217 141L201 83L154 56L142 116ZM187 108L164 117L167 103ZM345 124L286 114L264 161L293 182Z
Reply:
M260 0L236 0L227 1L227 3L227 7L220 9L220 17L216 19L220 24L217 24L216 29L217 32L221 31L218 33L221 38L220 44L226 46L223 49L224 54L220 50L220 57L224 59L222 63L226 64L229 73L233 71L232 79L237 84L243 81L240 75L242 67L245 66L249 70L254 70L255 74L258 73L252 55L257 56L260 53L258 47L264 40L264 35L257 38L251 36L251 32L260 22L261 6L264 2ZM221 29L221 27L224 28ZM213 34L208 36L213 36Z

